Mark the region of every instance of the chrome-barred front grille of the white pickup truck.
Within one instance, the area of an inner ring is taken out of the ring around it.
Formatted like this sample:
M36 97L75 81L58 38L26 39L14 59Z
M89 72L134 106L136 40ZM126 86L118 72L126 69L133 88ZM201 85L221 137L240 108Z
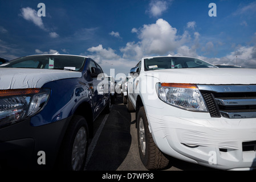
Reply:
M256 118L255 85L198 85L198 88L211 117Z

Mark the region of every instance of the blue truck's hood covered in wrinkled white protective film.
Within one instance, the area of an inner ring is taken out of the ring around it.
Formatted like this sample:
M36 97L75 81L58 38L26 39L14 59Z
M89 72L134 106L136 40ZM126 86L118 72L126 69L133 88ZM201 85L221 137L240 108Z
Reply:
M57 69L0 68L0 89L41 88L50 81L82 77L81 72Z

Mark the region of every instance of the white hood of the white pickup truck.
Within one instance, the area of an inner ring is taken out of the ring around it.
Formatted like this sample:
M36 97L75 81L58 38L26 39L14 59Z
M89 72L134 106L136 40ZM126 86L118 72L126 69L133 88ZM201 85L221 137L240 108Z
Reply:
M233 85L256 84L256 69L246 68L185 68L161 69L146 72L147 76L159 78L160 82Z

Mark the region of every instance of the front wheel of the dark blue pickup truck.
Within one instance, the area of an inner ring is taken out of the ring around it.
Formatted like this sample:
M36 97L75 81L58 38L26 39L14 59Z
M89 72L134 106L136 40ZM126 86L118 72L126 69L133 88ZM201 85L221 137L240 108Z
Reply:
M75 115L64 136L60 148L58 169L82 171L86 164L88 148L88 126L86 119Z

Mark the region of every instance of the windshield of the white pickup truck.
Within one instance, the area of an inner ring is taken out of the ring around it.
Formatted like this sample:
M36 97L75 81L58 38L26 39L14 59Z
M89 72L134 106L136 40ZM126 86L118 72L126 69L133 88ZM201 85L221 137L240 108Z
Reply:
M178 68L217 68L193 57L153 57L145 59L145 71Z

